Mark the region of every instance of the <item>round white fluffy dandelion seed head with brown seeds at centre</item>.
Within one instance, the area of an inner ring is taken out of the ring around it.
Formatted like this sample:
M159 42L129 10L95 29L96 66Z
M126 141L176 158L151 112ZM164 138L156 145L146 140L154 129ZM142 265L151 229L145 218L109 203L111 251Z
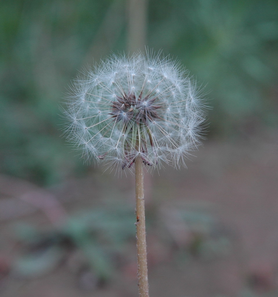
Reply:
M64 116L68 140L86 160L113 169L176 168L203 138L206 108L196 83L161 52L102 60L74 81Z

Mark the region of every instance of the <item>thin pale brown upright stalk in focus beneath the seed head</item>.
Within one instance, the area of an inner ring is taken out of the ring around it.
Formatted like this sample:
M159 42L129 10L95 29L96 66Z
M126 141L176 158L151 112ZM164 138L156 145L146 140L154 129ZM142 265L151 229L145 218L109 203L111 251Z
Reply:
M147 245L145 227L144 173L140 157L135 160L137 277L139 297L149 297Z

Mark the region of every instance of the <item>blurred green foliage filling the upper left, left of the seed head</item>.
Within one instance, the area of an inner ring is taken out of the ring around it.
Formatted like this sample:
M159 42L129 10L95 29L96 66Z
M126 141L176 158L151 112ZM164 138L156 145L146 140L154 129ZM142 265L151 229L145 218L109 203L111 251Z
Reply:
M52 184L79 163L59 103L111 1L2 1L0 145L4 172ZM60 114L60 115L59 115Z

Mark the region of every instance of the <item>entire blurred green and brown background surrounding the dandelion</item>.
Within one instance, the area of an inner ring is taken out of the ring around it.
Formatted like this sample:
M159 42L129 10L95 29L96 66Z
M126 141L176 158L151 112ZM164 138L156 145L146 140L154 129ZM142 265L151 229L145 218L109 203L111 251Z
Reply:
M0 2L0 295L136 296L133 176L84 165L61 137L59 106L88 64L145 45L179 59L212 107L188 170L146 174L151 291L277 296L268 0Z

